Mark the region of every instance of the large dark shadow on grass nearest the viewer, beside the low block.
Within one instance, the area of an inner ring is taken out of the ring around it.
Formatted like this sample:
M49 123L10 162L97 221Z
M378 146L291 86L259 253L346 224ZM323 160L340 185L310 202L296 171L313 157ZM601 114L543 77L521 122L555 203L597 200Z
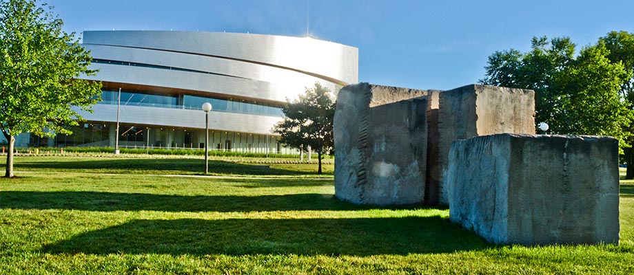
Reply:
M46 253L378 254L448 253L491 245L440 217L136 220L45 245Z

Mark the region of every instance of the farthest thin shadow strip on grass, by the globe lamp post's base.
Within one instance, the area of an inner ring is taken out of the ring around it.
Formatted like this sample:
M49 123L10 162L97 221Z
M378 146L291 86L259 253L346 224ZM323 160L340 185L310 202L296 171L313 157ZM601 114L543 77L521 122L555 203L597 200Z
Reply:
M15 170L88 170L100 173L203 173L203 159L125 159L125 158L39 158L37 161L21 159L14 164ZM316 175L317 172L269 168L267 165L238 164L209 160L209 172L230 175Z

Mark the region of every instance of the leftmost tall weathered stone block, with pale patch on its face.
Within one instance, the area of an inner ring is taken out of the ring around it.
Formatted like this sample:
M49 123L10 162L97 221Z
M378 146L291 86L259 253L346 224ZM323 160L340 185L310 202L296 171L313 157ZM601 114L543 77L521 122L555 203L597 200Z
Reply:
M367 83L339 91L334 118L336 197L372 205L424 201L425 95L427 91Z

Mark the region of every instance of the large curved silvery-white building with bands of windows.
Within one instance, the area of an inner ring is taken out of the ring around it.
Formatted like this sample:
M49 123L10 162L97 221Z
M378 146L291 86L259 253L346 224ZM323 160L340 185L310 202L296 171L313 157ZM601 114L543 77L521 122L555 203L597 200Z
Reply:
M272 134L280 107L307 87L331 91L358 82L358 49L309 37L224 32L86 31L90 80L102 102L73 135L30 139L30 146L114 146L121 89L119 146L210 148L288 153Z

